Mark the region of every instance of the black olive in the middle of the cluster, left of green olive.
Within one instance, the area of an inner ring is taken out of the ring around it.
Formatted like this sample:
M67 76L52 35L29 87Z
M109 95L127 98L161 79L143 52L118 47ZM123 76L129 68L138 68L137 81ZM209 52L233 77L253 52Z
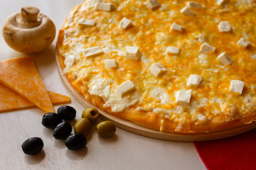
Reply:
M70 135L70 132L72 131L72 127L70 123L63 122L57 125L57 127L53 130L53 137L55 137L56 140L63 140L68 135Z

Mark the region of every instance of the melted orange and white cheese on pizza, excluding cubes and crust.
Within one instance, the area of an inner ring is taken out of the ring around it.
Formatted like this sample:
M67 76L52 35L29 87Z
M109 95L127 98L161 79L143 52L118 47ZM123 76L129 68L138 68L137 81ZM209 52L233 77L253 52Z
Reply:
M195 0L196 1L196 0ZM98 1L85 1L73 9L63 30L65 37L60 54L65 57L65 74L83 80L89 93L102 97L105 107L112 112L122 112L130 106L137 110L153 111L182 122L181 113L191 114L191 119L207 123L214 115L248 113L256 110L256 4L253 1L230 0L225 6L215 1L196 1L201 8L192 8L195 15L185 15L181 9L186 1L159 0L161 6L154 10L146 8L144 1L112 0L114 11L97 11ZM119 27L122 18L132 25ZM91 19L95 26L81 26L80 19ZM220 33L218 24L228 21L231 31ZM183 32L170 30L177 23ZM250 47L238 47L240 38L250 42ZM201 53L206 42L215 47L208 54ZM82 51L100 46L102 55L86 58ZM127 46L139 47L141 60L125 58ZM179 48L178 55L166 54L169 46ZM223 65L218 55L225 52L233 62ZM118 67L105 68L105 60L114 59ZM167 69L154 77L149 71L151 64L158 62ZM197 87L186 86L191 74L201 76ZM122 82L131 80L136 91L120 97L114 89ZM242 94L229 91L230 81L245 82ZM192 89L188 106L179 106L175 101L178 90ZM122 114L122 113L120 113ZM176 128L181 128L179 124Z

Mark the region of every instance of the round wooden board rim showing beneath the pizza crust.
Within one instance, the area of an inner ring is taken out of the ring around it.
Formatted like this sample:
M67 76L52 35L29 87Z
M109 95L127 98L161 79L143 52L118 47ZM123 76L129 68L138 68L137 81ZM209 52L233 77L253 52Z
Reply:
M97 108L96 106L92 105L92 103L86 101L85 98L83 98L77 91L75 91L75 89L73 89L73 86L71 86L70 82L65 77L63 68L61 67L61 64L60 64L58 54L55 55L55 58L56 58L60 78L63 81L63 84L65 85L65 87L70 92L70 94L72 94L75 97L75 99L77 99L85 108ZM97 109L100 112L101 118L103 120L112 120L112 122L114 122L114 124L117 125L118 128L127 130L129 132L133 132L137 135L152 137L159 140L171 140L171 141L183 141L183 142L218 140L225 137L232 137L234 135L239 135L243 132L247 132L249 130L256 128L256 122L254 122L254 123L250 123L249 125L242 125L241 127L238 127L238 128L223 130L219 132L196 133L196 134L160 132L159 130L152 130L149 128L145 128L141 125L137 125L136 123L132 123L129 120L123 120L123 119L117 118L114 115L111 115L110 113L100 110L99 108Z

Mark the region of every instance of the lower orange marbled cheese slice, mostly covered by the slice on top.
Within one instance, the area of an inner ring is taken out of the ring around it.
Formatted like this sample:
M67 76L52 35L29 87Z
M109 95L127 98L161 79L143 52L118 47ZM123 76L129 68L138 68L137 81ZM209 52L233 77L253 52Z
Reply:
M53 91L48 91L48 94L50 96L50 101L52 101L53 105L71 102L71 98L63 94L57 94ZM26 100L26 98L23 98L15 91L12 91L3 84L0 84L0 112L13 111L22 108L31 108L33 106L35 105L30 101Z

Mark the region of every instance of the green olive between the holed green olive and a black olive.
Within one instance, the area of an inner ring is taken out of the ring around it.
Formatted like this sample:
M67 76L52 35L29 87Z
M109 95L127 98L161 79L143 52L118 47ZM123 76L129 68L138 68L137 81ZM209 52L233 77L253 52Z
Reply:
M78 120L74 125L75 134L80 134L86 137L86 135L90 132L91 126L92 123L90 123L89 119L80 118L80 120Z

